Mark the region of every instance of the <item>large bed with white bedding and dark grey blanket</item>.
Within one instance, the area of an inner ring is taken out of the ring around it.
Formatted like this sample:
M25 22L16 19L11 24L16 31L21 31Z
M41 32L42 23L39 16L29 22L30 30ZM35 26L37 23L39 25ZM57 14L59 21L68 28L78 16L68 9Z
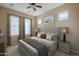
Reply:
M18 50L23 56L51 56L57 50L58 34L55 36L54 40L47 40L40 37L19 40Z

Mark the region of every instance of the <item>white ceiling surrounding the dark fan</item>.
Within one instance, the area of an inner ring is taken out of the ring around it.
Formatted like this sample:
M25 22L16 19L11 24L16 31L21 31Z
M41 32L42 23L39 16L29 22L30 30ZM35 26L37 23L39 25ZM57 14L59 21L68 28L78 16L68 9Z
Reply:
M30 6L29 3L0 3L0 6L2 7L6 7L9 9L27 13L32 16L38 16L42 13L50 11L58 6L63 5L63 3L36 3L36 5L41 5L42 8L36 7L37 10L34 11L32 8L27 9L27 7Z

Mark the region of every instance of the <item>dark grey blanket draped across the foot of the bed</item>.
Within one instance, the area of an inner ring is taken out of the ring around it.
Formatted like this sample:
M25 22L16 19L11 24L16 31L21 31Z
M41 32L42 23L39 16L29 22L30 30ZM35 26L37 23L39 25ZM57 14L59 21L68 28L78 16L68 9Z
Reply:
M37 49L39 56L47 56L48 55L48 48L44 44L42 44L36 40L33 40L33 39L26 39L23 41L28 43L35 49Z

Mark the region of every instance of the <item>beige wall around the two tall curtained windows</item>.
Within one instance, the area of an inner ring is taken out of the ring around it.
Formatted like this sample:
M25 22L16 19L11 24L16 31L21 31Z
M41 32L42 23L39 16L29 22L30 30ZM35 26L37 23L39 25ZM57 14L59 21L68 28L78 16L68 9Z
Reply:
M4 40L7 39L7 20L8 20L8 14L11 14L11 15L17 15L20 17L20 33L21 33L21 38L23 38L23 19L24 17L28 17L32 20L32 36L35 35L35 17L31 16L31 15L28 15L28 14L25 14L25 13L21 13L21 12L18 12L18 11L14 11L12 9L7 9L7 8L3 8L3 7L0 7L0 29L4 32ZM12 37L12 45L13 44L16 44L17 41L16 41L16 36ZM15 39L15 40L14 40ZM7 42L7 41L5 41Z

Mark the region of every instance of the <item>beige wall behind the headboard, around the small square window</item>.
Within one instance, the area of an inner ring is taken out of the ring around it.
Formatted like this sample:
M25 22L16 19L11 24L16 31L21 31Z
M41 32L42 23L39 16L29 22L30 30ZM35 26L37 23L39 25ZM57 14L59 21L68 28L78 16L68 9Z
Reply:
M69 20L59 21L58 12L67 9L69 11ZM69 38L67 40L71 42L71 50L79 53L79 4L64 4L49 12L37 16L37 20L39 18L44 20L44 17L48 15L55 16L55 27L69 27Z

